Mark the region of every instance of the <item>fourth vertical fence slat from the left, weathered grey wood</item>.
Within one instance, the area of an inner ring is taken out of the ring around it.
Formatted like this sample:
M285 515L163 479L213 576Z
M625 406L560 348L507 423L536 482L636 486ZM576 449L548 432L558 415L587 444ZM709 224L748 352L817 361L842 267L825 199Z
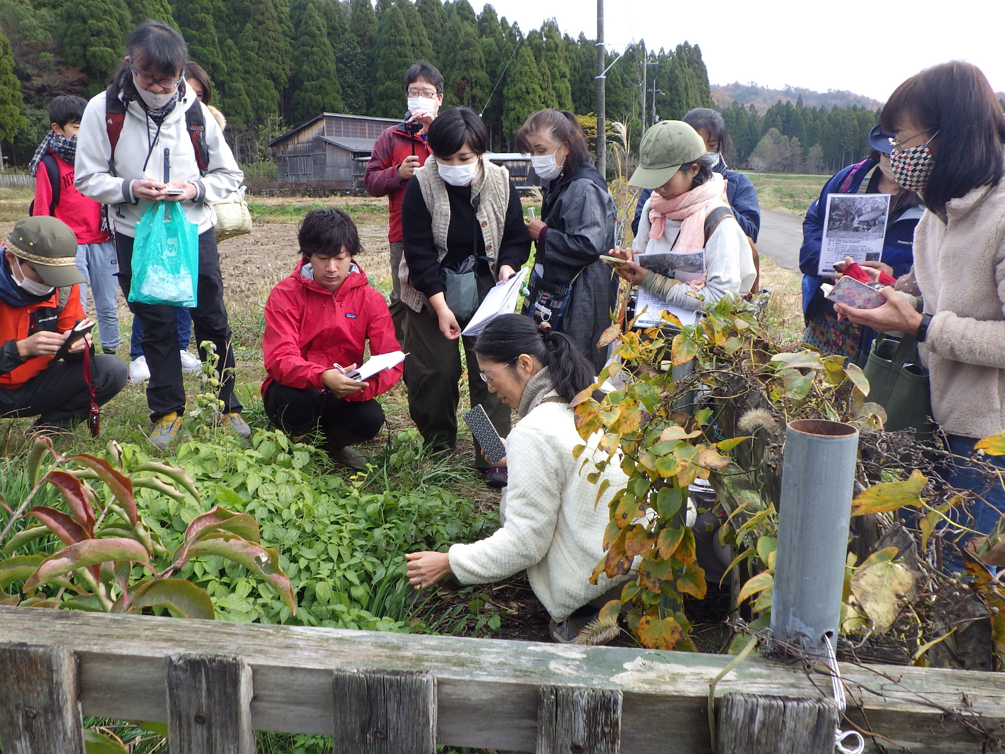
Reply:
M537 754L618 754L621 692L541 687Z

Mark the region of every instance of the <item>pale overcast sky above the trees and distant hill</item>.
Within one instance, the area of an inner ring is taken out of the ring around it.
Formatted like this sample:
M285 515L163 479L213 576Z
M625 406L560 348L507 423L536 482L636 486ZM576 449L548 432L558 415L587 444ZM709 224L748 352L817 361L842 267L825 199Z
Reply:
M596 36L594 0L491 0L526 33L554 16L572 36ZM481 2L472 0L476 11ZM856 15L857 14L857 15ZM605 37L621 50L687 40L701 46L712 83L740 80L885 101L908 76L953 58L978 65L1005 91L1005 2L833 3L819 0L607 0Z

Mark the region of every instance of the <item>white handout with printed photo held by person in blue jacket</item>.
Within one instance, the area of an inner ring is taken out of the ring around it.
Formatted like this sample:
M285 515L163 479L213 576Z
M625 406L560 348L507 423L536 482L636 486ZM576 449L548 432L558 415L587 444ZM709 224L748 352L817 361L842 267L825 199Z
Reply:
M889 194L827 194L817 274L833 275L834 263L845 256L879 261L888 213Z

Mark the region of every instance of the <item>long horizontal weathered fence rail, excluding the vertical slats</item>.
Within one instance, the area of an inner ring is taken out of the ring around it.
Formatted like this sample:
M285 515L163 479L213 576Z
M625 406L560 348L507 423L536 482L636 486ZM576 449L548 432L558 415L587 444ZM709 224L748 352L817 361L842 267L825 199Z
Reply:
M621 691L625 754L711 754L709 682L731 661L627 647L17 607L0 607L0 636L74 650L86 715L166 722L168 653L236 654L254 673L256 730L332 735L333 668L426 671L437 682L437 744L530 752L537 742L540 687L574 685ZM852 709L863 705L868 726L915 754L980 750L979 739L941 708L974 716L989 731L1005 726L1000 674L841 664L841 675L850 694L848 716L864 727ZM760 658L745 661L718 688L721 694L819 696L802 672Z

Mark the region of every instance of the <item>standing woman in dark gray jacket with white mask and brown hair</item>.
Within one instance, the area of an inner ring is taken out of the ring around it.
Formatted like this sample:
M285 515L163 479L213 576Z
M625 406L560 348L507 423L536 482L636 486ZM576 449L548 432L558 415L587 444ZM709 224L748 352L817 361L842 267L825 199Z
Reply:
M538 242L524 314L550 321L579 346L598 372L597 341L611 324L618 284L600 254L614 246L614 200L593 167L576 117L558 110L531 115L517 134L545 182L541 219L527 223Z

